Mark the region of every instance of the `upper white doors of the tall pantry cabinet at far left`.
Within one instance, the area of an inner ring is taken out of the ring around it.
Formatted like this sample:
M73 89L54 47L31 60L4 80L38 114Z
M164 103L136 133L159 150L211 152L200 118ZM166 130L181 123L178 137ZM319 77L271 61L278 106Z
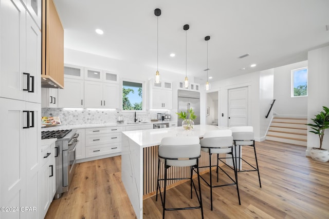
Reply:
M0 97L41 103L41 31L20 1L1 1L0 21Z

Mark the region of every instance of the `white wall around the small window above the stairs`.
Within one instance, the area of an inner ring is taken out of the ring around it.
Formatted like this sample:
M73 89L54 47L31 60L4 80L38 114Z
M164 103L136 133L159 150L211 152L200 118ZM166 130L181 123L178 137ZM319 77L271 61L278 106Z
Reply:
M273 111L282 117L307 117L307 96L291 97L291 70L307 67L303 61L274 69ZM309 74L309 73L308 73ZM311 75L309 74L308 77Z

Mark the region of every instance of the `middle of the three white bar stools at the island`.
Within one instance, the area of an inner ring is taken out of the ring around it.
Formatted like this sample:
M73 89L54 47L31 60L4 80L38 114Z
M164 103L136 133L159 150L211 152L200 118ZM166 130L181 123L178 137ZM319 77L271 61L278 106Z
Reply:
M201 144L201 150L209 153L209 174L210 174L210 183L208 183L203 176L200 176L205 183L210 187L210 201L211 201L211 210L212 210L212 188L215 187L223 187L223 186L233 186L236 185L236 191L237 191L237 197L239 199L239 205L241 205L240 202L240 194L239 194L239 186L237 185L237 173L235 168L235 160L233 157L233 137L232 137L232 131L229 129L225 130L212 130L208 131L204 134L204 138L200 140ZM227 163L223 162L222 159L227 158L220 158L219 154L225 153L230 154L232 158L233 168L229 166ZM232 183L227 184L221 184L221 185L212 185L212 175L211 175L211 168L215 167L215 165L211 165L211 155L217 154L217 165L216 165L216 173L217 173L217 183L218 183L218 168L221 169L232 181ZM234 178L230 176L222 167L219 166L219 161L221 161L223 164L228 166L230 169L234 171ZM205 166L208 167L208 166ZM199 167L203 168L203 167Z

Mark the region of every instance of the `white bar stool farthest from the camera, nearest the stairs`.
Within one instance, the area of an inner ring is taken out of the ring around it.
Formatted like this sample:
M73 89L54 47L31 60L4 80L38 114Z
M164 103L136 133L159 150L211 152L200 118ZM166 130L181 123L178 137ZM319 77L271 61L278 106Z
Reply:
M259 179L259 186L262 188L261 177L260 177L259 168L258 168L256 148L255 148L253 127L252 126L236 126L236 127L231 127L230 129L232 130L234 146L235 147L239 146L239 150L238 150L239 154L235 156L235 162L236 162L237 158L239 158L239 165L236 165L237 167L239 166L239 170L237 170L237 172L257 171L258 179ZM244 158L242 158L241 146L253 147L253 151L255 154L256 167L251 165L250 163L248 163L246 160L244 160ZM252 169L242 170L241 169L242 161L244 161L246 164L248 164Z

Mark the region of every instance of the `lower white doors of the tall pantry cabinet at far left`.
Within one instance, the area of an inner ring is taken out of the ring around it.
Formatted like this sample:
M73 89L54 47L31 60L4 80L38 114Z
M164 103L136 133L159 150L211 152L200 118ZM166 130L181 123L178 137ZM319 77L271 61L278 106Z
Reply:
M41 105L0 97L0 106L0 204L36 207ZM19 217L20 212L0 212L0 217L11 218L16 213ZM36 218L36 211L28 213Z

